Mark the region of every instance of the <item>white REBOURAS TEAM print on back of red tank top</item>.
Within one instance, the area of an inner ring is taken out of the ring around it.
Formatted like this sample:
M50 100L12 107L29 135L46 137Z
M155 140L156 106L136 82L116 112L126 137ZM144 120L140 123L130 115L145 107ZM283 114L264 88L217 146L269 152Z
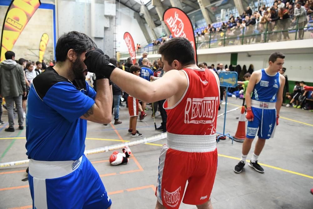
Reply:
M212 123L217 105L218 97L187 98L184 123Z

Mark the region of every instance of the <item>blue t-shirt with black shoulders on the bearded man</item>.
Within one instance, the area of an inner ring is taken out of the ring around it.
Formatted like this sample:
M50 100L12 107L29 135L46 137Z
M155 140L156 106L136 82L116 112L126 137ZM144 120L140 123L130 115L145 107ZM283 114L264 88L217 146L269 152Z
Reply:
M52 68L33 80L28 94L26 149L29 159L76 160L84 153L87 121L80 117L95 103L84 80L73 83Z

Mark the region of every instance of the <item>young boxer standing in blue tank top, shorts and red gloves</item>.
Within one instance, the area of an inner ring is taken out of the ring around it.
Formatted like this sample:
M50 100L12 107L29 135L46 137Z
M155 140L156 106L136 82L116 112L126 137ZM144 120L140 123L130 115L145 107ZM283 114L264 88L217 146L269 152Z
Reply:
M258 164L258 158L266 139L274 137L275 128L278 125L285 85L285 76L281 75L279 71L284 62L285 55L274 52L269 56L269 66L266 69L254 71L251 74L246 90L247 135L242 145L241 160L234 168L235 173L243 170L256 135L259 138L255 144L249 167L264 173L264 169Z

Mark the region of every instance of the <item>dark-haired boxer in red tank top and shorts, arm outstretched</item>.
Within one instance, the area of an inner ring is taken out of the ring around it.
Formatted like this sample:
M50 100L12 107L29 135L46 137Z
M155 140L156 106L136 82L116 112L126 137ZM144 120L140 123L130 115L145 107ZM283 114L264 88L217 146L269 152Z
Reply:
M212 70L198 68L193 47L185 38L165 42L158 53L166 73L154 82L112 69L103 64L104 57L97 52L93 56L100 60L95 67L103 66L105 76L128 94L147 103L166 99L167 144L162 146L159 158L156 208L178 208L183 201L212 209L210 195L217 170L218 77Z

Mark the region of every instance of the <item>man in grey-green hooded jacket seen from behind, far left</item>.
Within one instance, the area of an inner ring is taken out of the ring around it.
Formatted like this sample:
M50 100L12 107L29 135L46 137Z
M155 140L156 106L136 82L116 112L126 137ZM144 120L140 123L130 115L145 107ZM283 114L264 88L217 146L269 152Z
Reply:
M24 72L15 60L13 51L7 51L0 64L0 97L4 97L8 109L9 128L5 131L14 132L14 102L18 111L18 129L23 130L22 95L26 96Z

